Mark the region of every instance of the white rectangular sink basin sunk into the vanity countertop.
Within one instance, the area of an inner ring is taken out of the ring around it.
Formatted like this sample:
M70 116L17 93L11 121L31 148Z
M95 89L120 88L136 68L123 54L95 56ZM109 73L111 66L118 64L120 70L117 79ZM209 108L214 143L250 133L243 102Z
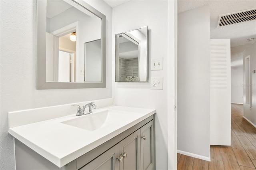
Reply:
M120 121L120 117L122 118L122 120L128 119L129 115L130 114L126 112L106 110L78 116L75 119L71 119L61 123L78 128L83 128L85 130L94 131Z

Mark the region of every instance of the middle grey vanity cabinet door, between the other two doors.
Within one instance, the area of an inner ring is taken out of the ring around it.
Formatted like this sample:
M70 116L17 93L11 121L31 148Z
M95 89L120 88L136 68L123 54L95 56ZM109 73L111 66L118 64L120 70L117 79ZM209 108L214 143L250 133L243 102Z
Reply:
M127 157L120 162L120 170L140 170L140 129L119 142L120 156L126 153Z

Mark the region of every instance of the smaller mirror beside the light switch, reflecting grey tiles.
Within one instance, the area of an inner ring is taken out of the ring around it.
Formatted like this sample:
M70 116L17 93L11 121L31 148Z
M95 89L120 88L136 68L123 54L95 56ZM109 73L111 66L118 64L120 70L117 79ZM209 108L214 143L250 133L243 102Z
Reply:
M115 82L148 81L148 26L115 35Z

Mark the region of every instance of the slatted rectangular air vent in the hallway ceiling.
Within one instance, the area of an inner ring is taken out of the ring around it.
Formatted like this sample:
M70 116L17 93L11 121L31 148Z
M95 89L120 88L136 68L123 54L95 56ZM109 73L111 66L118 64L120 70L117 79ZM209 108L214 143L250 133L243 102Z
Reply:
M256 8L219 16L218 27L256 20Z

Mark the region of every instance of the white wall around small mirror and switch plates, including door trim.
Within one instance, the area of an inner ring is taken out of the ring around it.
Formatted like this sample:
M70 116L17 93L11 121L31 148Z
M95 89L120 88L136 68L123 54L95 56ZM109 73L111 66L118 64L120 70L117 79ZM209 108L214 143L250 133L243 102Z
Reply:
M168 11L172 9L172 11ZM149 77L163 77L164 89L151 90L149 82L114 83L114 105L156 109L156 169L176 169L174 138L174 1L133 0L113 8L114 34L148 26L149 65L156 57L164 58L164 70L149 71ZM113 61L114 65L114 47ZM150 69L150 68L149 68ZM114 81L114 67L113 67ZM170 83L170 84L168 84ZM169 117L170 115L170 117ZM170 124L168 124L170 123ZM170 127L168 127L170 125ZM169 129L168 129L169 128ZM170 131L168 131L170 130ZM168 135L170 138L168 138ZM169 140L168 140L169 139ZM168 144L172 144L168 148ZM169 157L168 157L169 151ZM168 164L169 162L169 164Z

